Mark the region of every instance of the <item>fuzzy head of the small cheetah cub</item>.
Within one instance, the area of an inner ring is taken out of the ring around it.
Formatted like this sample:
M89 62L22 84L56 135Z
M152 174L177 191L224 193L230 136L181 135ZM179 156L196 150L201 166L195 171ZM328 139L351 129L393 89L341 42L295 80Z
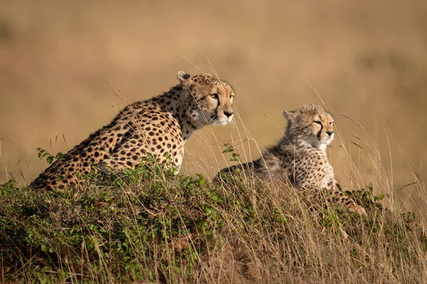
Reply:
M326 149L334 140L334 118L315 104L305 104L295 111L283 111L288 120L286 136L297 146Z

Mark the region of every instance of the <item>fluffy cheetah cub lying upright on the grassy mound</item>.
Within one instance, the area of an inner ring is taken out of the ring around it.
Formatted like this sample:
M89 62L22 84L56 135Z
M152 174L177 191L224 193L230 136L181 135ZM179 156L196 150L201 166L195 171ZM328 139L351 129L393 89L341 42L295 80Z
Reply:
M264 151L262 158L243 165L225 168L253 169L260 178L284 178L298 189L330 191L330 199L350 211L366 215L363 207L336 188L334 170L327 159L327 146L334 139L332 115L314 104L295 111L283 111L288 120L285 136Z

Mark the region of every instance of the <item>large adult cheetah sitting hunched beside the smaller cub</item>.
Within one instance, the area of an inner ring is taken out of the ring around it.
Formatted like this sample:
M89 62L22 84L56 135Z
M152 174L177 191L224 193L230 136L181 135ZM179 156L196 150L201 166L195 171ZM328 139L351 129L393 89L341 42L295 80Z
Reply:
M179 168L184 143L208 124L225 125L233 119L231 85L209 74L178 72L179 84L152 99L134 102L89 138L56 160L30 187L63 189L75 185L77 174L88 174L93 163L109 168L133 168L151 153L168 167Z

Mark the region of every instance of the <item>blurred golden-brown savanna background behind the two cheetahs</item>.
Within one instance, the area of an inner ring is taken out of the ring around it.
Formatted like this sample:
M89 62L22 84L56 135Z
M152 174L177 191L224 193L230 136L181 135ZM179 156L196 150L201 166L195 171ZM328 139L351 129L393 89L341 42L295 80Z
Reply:
M117 90L128 102L148 99L176 84L178 70L214 68L233 85L238 115L191 137L181 173L213 176L231 165L221 153L226 143L243 161L258 158L283 135L283 109L325 102L339 133L330 148L339 182L372 182L377 191L408 193L406 209L423 206L426 1L0 7L0 183L27 184L47 166L36 148L65 153L107 124L125 105Z

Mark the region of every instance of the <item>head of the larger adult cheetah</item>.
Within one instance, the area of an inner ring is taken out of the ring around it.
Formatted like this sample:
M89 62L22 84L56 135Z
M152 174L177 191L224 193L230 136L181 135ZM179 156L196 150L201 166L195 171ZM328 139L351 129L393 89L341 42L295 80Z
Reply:
M178 72L182 88L186 115L201 126L225 125L233 119L234 92L231 85L210 74L191 76Z

